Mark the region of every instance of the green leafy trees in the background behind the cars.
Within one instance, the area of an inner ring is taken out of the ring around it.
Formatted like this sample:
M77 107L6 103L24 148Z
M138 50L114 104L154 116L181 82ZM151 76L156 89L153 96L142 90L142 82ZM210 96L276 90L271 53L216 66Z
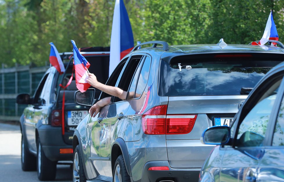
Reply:
M284 37L284 1L124 0L134 42L248 44L259 40L269 11ZM44 65L49 42L59 52L109 46L115 0L0 0L0 63Z

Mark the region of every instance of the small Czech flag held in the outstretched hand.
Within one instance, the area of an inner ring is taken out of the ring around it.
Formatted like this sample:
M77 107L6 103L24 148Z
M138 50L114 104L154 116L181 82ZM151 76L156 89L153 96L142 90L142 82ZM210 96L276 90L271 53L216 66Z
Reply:
M91 86L86 80L88 78L88 68L90 63L82 56L73 40L73 54L74 54L74 67L75 67L75 78L76 86L80 92L85 92Z

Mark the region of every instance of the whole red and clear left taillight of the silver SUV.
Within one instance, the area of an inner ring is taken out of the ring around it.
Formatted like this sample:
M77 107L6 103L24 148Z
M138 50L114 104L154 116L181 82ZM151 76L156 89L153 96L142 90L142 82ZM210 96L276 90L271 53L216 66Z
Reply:
M145 134L188 134L193 129L197 114L168 114L168 105L155 106L142 115Z

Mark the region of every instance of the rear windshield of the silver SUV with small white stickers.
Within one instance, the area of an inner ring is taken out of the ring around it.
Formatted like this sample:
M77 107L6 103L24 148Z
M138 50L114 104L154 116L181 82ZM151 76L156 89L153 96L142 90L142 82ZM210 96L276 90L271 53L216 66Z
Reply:
M280 62L253 57L161 60L159 95L240 95L242 87L254 87Z

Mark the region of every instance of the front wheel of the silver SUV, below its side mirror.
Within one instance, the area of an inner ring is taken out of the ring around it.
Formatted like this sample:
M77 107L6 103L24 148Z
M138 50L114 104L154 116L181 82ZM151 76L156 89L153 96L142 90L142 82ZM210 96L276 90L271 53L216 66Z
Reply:
M80 147L77 145L73 154L73 181L85 182L86 180Z

